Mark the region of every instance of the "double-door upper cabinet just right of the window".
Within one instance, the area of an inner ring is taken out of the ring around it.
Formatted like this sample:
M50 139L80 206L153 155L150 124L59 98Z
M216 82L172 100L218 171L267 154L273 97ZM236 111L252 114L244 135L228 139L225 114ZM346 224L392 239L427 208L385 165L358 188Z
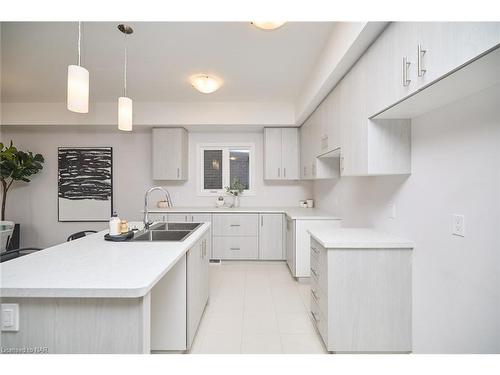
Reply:
M264 129L264 179L299 179L298 128Z

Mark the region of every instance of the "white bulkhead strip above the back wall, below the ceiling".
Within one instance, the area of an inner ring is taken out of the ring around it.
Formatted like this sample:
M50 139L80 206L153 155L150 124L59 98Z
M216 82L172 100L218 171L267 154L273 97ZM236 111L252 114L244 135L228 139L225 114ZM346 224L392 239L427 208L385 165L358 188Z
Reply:
M115 125L116 102L90 103L89 113L66 110L66 103L3 103L6 125ZM292 103L281 102L138 102L134 101L134 125L294 126Z

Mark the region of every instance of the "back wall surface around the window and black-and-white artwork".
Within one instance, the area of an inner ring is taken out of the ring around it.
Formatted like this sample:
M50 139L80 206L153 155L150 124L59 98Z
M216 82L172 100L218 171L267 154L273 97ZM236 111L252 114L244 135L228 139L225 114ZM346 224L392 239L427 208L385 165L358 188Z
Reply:
M151 179L151 130L118 132L114 127L3 126L3 138L20 149L44 155L43 171L32 182L10 192L6 216L22 225L22 245L46 247L65 241L78 230L102 229L106 223L57 222L57 148L59 146L112 146L114 208L120 217L141 220L144 192L153 184L167 186L177 206L211 206L214 197L196 195L197 142L255 142L256 195L242 196L242 206L290 206L312 195L310 182L263 181L262 133L190 133L189 179L186 182ZM158 195L155 195L158 194ZM162 197L152 195L151 203Z

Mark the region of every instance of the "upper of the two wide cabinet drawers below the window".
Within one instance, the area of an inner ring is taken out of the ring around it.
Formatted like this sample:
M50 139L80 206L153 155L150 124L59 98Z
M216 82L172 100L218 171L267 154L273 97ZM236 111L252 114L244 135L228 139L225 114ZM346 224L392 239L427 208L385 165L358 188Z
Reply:
M214 214L214 236L257 236L259 234L258 214Z

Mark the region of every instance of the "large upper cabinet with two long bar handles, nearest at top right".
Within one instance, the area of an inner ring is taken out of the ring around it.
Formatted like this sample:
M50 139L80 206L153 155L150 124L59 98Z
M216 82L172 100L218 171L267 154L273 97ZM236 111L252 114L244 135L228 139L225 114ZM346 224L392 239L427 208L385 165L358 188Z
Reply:
M499 22L391 23L361 59L369 61L368 116L393 106L499 43Z

